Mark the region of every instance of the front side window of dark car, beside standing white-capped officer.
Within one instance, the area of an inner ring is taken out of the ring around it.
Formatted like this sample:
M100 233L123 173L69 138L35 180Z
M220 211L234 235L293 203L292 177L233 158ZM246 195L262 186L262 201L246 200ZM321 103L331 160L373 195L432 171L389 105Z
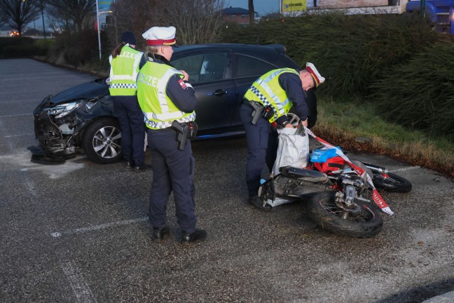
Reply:
M203 53L188 55L172 60L176 69L183 69L189 75L189 83L202 83L225 79L227 54Z

